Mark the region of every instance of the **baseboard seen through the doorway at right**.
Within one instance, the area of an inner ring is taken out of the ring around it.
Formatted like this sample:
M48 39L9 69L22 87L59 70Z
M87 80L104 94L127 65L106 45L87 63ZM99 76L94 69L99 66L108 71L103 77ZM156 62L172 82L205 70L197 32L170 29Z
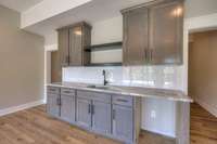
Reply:
M205 108L207 112L209 112L210 114L213 114L215 117L217 117L217 106L216 105L212 105L199 97L195 97L195 102L199 103L203 108Z

